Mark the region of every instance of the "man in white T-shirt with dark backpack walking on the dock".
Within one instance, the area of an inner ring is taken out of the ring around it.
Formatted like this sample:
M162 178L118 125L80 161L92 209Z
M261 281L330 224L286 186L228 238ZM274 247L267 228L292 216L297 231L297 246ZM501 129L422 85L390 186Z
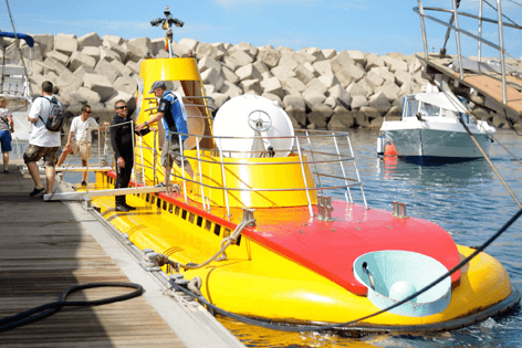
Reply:
M53 116L55 116L54 118L60 118L63 115L61 115L62 106L52 93L53 84L49 81L43 82L42 96L34 99L28 115L28 119L33 124L33 127L29 138L29 146L23 154L23 161L28 166L29 173L34 181L34 190L29 194L30 197L36 196L45 189L36 164L41 158L43 158L45 165L45 193L52 193L56 176L54 166L61 145L61 127L58 127L58 130L50 130L48 127L53 128L50 126Z

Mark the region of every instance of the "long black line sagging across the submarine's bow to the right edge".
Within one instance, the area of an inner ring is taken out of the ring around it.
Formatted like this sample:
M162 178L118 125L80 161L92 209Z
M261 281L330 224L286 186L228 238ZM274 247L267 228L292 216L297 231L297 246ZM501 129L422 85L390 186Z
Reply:
M367 316L364 316L364 317L361 317L358 319L355 319L355 320L351 320L351 321L345 321L345 323L338 323L338 324L332 324L332 325L289 325L289 324L270 324L270 323L265 323L265 321L262 321L262 320L258 320L258 319L253 319L253 318L250 318L250 317L246 317L246 316L241 316L241 315L238 315L238 314L233 314L233 313L230 313L230 312L227 312L222 308L219 308L217 306L215 306L213 304L209 303L203 296L197 296L196 294L194 294L191 291L189 291L188 288L184 287L184 286L180 286L180 285L177 285L175 284L174 282L174 287L176 288L176 291L181 291L184 292L185 294L191 296L192 298L196 298L198 299L198 302L200 302L201 304L203 304L205 306L207 306L207 308L211 308L213 309L215 312L223 315L223 316L228 316L232 319L236 319L238 321L242 321L242 323L246 323L246 324L250 324L250 325L255 325L255 326L260 326L260 327L264 327L264 328L269 328L269 329L274 329L274 330L280 330L280 331L291 331L291 333L296 333L296 331L324 331L324 330L335 330L335 329L338 329L341 327L345 327L345 326L351 326L351 325L354 325L358 321L362 321L362 320L365 320L365 319L368 319L368 318L372 318L372 317L375 317L382 313L385 313L385 312L389 312L390 309L395 308L395 307L398 307L405 303L407 303L408 300L410 300L411 298L414 297L417 297L418 295L422 294L424 292L430 289L431 287L434 287L435 285L437 285L438 283L442 282L446 277L448 276L451 276L451 274L453 274L455 272L457 272L458 270L460 270L461 267L463 267L468 262L471 261L471 259L473 259L474 256L477 256L480 252L482 252L488 245L490 245L494 240L497 240L502 233L504 233L509 226L511 226L522 215L522 209L520 209L507 223L504 223L504 225L502 228L500 228L499 231L497 231L495 234L493 234L490 239L488 239L480 247L478 247L471 255L469 255L468 257L466 257L464 260L462 260L457 266L455 266L453 268L451 268L450 271L448 271L446 274L441 275L439 278L437 278L436 281L434 281L431 284L428 284L427 286L425 286L424 288L419 289L418 292L416 292L415 294L411 294L410 296L404 298L403 300L400 302L397 302L396 304L387 307L387 308L384 308L382 310L378 310L378 312L375 312L370 315L367 315Z

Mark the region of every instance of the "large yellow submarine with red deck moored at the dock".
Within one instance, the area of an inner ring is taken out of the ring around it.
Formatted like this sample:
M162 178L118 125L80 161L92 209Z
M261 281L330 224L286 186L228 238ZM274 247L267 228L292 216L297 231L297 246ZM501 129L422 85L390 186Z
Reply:
M293 129L281 107L255 95L212 117L190 56L142 62L137 123L157 113L147 93L155 81L182 95L194 177L175 168L171 190L127 194L135 211L115 211L112 197L92 203L137 247L165 255L165 272L198 280L210 304L295 327L419 333L472 325L520 302L495 259L479 252L449 275L476 250L403 204L369 209L347 133ZM136 143L132 188L164 180L164 138L159 129ZM112 189L115 178L97 172L94 187ZM332 200L333 191L345 200Z

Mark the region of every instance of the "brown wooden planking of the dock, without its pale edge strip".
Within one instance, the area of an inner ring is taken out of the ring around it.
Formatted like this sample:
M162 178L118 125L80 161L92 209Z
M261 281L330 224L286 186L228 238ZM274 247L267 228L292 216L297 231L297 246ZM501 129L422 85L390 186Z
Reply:
M128 278L61 203L29 198L30 180L9 175L0 186L0 318L56 302L66 288ZM155 188L157 189L157 188ZM132 292L93 288L70 300ZM0 334L7 347L186 347L145 297L96 307L63 308Z

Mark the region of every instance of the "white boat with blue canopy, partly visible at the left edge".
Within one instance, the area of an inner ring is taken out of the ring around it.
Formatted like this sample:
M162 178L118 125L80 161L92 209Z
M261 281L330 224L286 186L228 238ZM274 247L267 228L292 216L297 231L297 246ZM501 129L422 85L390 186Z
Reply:
M0 32L0 38L13 36L13 33ZM34 44L30 35L17 34L15 36L25 40L29 46ZM27 68L18 63L7 61L6 46L2 45L2 49L0 96L6 97L8 109L11 112L14 123L14 133L11 134L12 151L10 152L10 158L22 159L32 130L32 124L28 120L28 114L32 104L31 91L29 88Z

